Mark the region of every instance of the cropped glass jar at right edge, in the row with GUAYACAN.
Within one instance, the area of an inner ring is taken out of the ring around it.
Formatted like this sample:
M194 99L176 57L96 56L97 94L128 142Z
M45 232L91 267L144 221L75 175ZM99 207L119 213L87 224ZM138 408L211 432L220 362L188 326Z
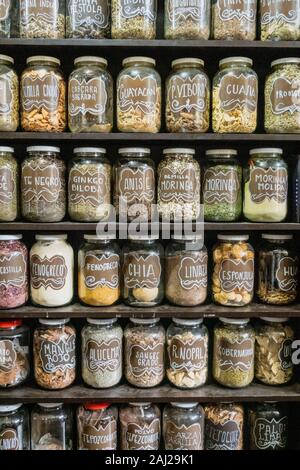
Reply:
M297 13L300 18L300 9ZM265 131L271 134L300 133L300 58L271 62L265 82Z

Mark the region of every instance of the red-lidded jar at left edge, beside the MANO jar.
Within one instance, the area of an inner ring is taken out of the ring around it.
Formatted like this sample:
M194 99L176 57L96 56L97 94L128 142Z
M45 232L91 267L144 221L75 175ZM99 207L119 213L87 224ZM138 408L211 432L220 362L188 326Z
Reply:
M21 385L29 372L29 328L22 320L0 321L0 388Z

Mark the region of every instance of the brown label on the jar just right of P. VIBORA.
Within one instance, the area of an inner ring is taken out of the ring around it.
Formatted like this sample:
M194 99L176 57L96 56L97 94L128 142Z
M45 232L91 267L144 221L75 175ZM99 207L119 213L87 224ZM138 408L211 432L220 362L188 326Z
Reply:
M226 112L236 108L256 111L258 96L257 78L253 75L226 74L221 79L219 88L220 106Z

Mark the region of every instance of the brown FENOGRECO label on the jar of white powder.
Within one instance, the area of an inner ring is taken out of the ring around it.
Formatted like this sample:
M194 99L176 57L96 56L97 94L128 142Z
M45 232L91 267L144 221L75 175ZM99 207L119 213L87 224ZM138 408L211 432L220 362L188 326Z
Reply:
M68 268L63 256L56 255L48 258L39 255L31 256L30 260L31 285L34 289L60 290L66 283Z

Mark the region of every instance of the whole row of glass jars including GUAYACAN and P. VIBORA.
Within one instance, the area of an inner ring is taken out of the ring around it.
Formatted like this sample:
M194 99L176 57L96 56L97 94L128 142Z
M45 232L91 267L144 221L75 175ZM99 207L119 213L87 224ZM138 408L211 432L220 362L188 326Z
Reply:
M4 92L0 96L0 131L19 125L18 77L14 60L0 56ZM247 57L228 57L212 86L212 130L253 133L257 126L258 77ZM128 57L116 83L117 128L120 132L157 133L161 128L161 78L150 57ZM66 83L60 60L27 59L20 80L21 127L27 132L63 132L67 126ZM75 59L68 83L71 132L111 132L113 79L101 57ZM277 59L265 82L265 130L299 133L300 58ZM210 81L201 59L172 62L166 82L166 128L169 132L206 132L210 125Z

